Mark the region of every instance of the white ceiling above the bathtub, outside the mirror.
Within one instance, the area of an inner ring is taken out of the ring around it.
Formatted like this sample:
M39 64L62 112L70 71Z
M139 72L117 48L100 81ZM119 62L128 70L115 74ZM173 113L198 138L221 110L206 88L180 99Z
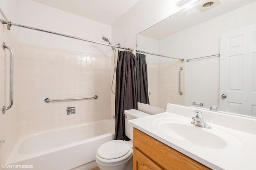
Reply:
M139 0L33 0L78 16L113 25Z

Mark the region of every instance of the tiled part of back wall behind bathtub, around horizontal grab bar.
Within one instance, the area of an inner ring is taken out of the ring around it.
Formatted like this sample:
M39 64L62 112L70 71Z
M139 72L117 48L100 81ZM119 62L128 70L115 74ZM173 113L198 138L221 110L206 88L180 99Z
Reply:
M110 117L111 58L80 51L20 45L20 134ZM45 103L45 98L98 99ZM76 113L66 114L66 107Z

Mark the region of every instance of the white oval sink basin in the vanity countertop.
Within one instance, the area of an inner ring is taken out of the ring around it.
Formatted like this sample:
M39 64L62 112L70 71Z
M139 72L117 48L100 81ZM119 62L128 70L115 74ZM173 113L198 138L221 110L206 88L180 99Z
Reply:
M214 127L206 129L192 125L190 122L190 119L184 121L183 119L165 118L156 119L153 124L172 139L197 147L222 149L227 146L227 141L230 139L241 146L242 142L226 131Z

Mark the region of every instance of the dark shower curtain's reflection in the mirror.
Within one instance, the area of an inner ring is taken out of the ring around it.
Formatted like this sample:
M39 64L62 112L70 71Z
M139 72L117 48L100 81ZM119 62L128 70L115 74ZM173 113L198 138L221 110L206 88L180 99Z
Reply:
M137 53L137 85L138 85L138 102L149 104L148 98L148 66L146 55Z

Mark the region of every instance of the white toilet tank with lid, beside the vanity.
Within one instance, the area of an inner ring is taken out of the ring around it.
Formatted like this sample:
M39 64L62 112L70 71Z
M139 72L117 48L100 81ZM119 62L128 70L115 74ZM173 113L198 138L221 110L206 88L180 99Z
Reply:
M138 111L136 109L125 110L124 115L125 115L125 118L124 118L125 119L125 123L124 123L125 135L133 141L133 126L128 125L128 121L132 119L137 119L140 117L150 116L150 115L142 111Z

